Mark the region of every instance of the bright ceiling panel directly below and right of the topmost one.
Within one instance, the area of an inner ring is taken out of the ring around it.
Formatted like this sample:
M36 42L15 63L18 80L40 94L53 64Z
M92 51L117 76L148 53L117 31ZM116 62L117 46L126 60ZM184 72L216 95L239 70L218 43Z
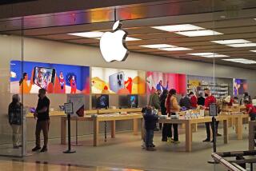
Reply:
M222 33L219 33L214 30L194 30L194 31L175 32L175 34L182 34L188 37L198 37L198 36L214 36L214 35L220 35Z

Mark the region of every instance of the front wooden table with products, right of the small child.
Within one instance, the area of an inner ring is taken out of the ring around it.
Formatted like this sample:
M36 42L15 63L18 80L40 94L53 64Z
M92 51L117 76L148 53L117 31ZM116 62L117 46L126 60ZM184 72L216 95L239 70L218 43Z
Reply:
M226 117L218 116L215 117L217 121L223 121L223 139L224 143L228 143L228 121ZM179 119L160 119L159 123L170 123L170 124L185 124L186 129L186 152L192 151L192 125L205 123L212 121L212 117L198 117L198 118L190 118L185 119L181 117Z

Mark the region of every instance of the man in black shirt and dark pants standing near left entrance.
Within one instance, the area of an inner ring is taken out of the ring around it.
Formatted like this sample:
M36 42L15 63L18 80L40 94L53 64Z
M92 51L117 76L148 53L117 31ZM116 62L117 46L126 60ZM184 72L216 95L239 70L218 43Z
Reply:
M37 117L37 125L35 129L35 147L32 151L38 151L41 149L40 145L40 133L42 131L44 137L44 145L41 149L41 152L47 151L47 144L48 144L48 132L50 126L50 117L49 117L49 107L50 107L50 100L46 97L46 89L39 89L38 91L38 105L36 108L36 112L34 113L34 117Z

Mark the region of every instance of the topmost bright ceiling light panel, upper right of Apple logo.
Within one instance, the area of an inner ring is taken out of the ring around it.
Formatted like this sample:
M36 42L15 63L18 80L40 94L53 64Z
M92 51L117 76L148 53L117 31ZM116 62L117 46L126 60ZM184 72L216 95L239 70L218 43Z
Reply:
M176 32L176 31L189 31L189 30L204 30L200 26L194 26L191 24L180 24L180 25L171 25L171 26L152 26L154 29Z

